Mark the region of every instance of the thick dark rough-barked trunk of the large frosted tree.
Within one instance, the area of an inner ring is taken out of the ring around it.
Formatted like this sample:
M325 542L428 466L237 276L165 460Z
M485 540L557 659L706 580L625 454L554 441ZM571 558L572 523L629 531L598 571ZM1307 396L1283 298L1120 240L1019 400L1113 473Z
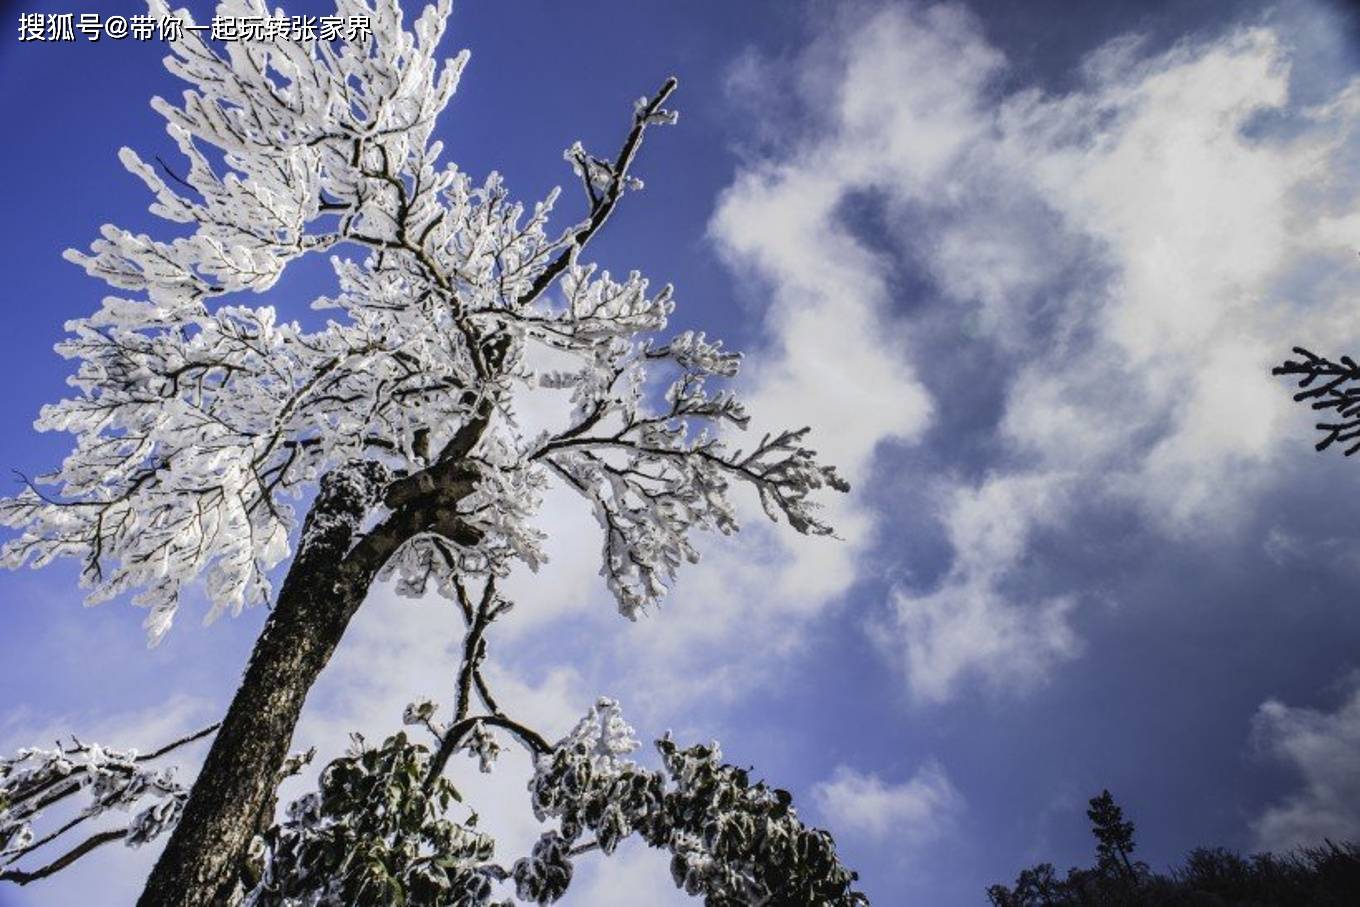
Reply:
M273 612L137 907L209 907L231 895L307 691L401 541L389 521L351 548L385 472L360 464L322 480Z

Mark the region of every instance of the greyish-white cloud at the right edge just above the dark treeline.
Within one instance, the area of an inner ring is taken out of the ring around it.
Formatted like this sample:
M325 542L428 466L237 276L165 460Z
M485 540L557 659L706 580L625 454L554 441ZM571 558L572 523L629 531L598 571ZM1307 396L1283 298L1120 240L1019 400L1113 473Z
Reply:
M1360 681L1333 713L1262 703L1257 745L1291 766L1303 786L1253 823L1255 846L1284 851L1325 839L1360 840Z

